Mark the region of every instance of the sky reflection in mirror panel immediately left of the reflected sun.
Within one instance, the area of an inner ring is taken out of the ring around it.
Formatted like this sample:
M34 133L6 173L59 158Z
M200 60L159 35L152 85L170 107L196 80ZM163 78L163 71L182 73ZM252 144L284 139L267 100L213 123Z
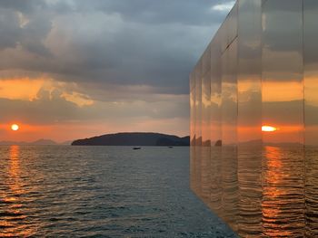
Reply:
M238 59L238 141L262 141L262 22L260 1L241 0Z

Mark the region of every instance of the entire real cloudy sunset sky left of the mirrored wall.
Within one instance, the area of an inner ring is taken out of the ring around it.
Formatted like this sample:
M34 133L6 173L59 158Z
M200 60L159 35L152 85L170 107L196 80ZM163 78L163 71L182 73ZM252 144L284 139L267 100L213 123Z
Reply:
M188 135L189 73L233 5L0 1L0 141Z

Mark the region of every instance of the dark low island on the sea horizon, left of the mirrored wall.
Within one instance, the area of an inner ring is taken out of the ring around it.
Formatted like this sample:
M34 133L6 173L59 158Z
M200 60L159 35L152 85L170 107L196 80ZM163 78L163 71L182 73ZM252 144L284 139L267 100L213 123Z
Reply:
M77 139L72 146L190 146L190 137L179 138L173 135L148 132L124 132L106 134L94 138Z

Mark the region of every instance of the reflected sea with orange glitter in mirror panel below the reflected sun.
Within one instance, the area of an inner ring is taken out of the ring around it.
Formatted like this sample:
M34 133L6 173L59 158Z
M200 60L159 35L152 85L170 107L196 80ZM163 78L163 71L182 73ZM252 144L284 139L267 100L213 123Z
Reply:
M303 171L303 154L299 148L263 148L262 208L265 237L303 237Z

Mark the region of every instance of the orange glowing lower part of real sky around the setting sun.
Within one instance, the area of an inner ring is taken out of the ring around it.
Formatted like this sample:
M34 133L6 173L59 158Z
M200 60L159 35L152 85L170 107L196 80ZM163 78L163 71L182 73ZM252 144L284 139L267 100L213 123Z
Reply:
M0 101L3 100L3 103L8 105L5 119L0 121L0 141L35 141L39 138L50 138L64 142L123 131L187 135L188 119L152 119L143 116L133 117L127 122L120 115L116 118L114 111L123 110L120 113L124 113L131 104L135 104L138 109L143 107L143 101L103 102L90 99L82 91L75 83L62 83L45 77L0 80ZM171 97L174 99L174 96ZM185 101L187 102L186 98ZM107 109L113 110L112 115L107 115ZM149 109L154 114L160 113L160 110L156 112L155 108ZM107 119L108 117L110 119ZM14 123L20 127L17 131L11 129Z

